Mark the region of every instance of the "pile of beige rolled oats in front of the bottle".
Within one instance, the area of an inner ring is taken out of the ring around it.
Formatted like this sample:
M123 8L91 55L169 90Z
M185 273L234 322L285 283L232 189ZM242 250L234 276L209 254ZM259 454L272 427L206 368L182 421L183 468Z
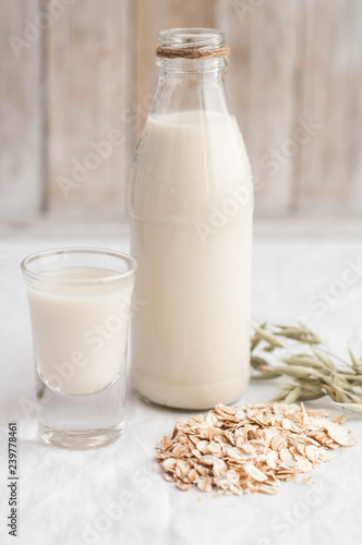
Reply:
M328 414L303 404L219 403L206 416L179 421L172 438L157 445L156 459L166 481L181 491L195 485L220 494L275 494L280 481L331 460L338 447L355 445L340 425L345 416Z

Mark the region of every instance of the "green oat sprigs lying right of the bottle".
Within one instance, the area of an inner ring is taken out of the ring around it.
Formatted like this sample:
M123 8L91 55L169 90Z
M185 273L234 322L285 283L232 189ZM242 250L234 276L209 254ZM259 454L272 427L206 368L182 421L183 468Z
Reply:
M272 401L310 401L324 396L362 415L362 361L349 351L350 361L331 354L321 339L302 326L254 327L251 338L252 378L291 378Z

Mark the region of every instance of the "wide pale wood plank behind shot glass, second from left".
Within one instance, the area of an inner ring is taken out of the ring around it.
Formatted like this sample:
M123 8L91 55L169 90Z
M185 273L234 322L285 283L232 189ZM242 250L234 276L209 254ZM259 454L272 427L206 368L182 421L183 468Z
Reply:
M48 198L52 213L101 217L124 209L132 17L129 0L77 0L49 29Z

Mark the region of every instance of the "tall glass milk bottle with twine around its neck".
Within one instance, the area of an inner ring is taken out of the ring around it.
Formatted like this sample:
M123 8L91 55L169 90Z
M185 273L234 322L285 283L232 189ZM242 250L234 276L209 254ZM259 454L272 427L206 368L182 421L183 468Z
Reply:
M252 174L225 92L224 34L164 31L157 53L129 192L142 302L131 376L147 400L208 409L249 382Z

